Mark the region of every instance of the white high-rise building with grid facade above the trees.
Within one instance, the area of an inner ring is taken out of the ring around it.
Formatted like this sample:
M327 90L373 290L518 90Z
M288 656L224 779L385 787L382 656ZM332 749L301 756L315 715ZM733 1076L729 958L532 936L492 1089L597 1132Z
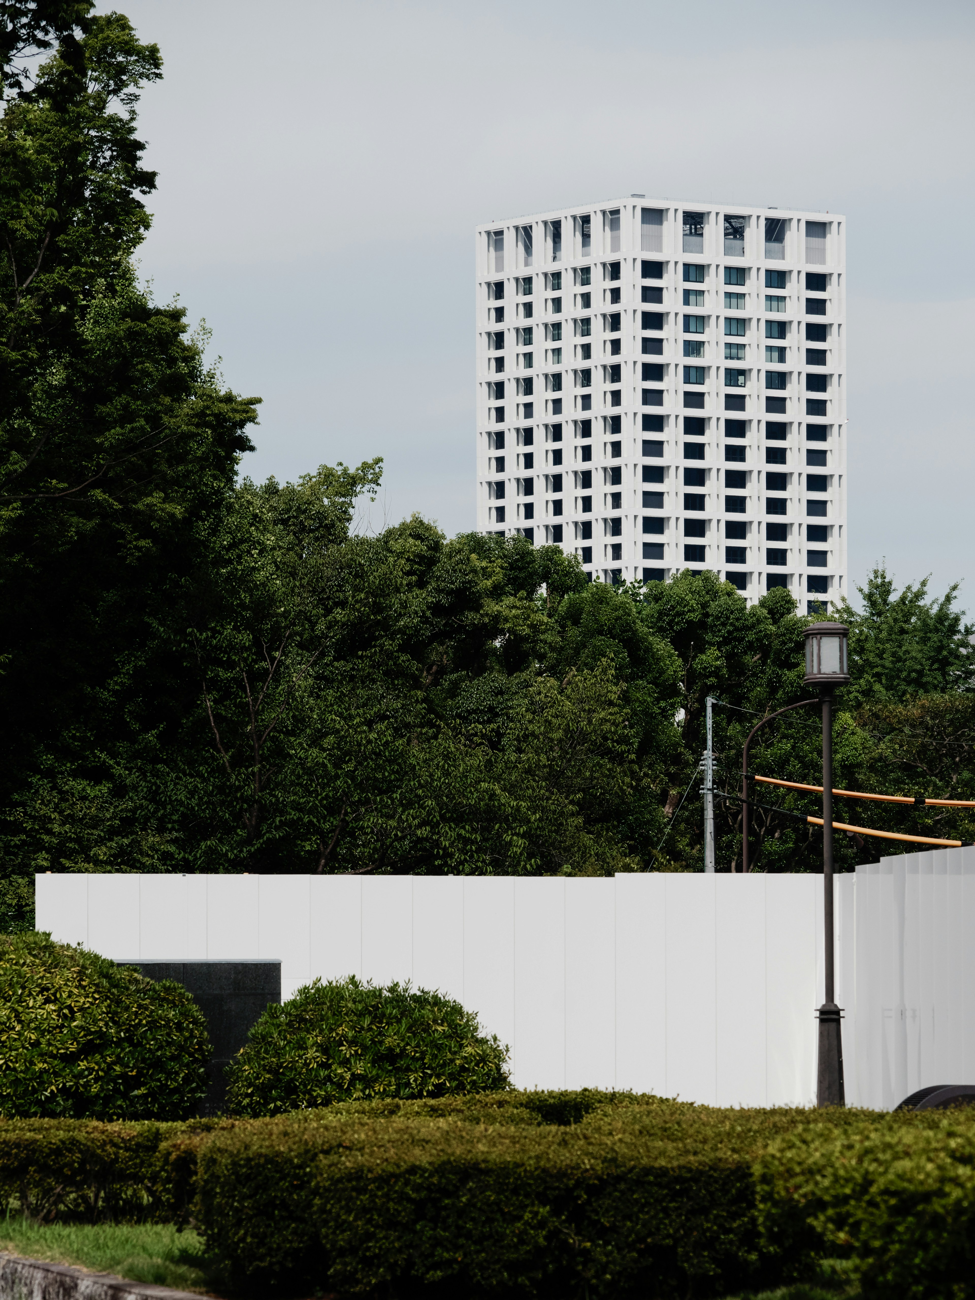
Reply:
M603 582L846 580L846 246L829 212L629 195L477 229L477 526Z

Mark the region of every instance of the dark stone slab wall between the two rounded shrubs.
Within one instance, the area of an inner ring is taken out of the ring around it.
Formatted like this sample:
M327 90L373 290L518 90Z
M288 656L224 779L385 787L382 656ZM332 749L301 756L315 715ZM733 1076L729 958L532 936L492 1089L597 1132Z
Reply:
M247 1041L247 1034L270 1002L281 1002L281 962L120 962L146 979L170 979L194 996L207 1017L213 1056L207 1067L207 1100L202 1115L224 1109L225 1069Z

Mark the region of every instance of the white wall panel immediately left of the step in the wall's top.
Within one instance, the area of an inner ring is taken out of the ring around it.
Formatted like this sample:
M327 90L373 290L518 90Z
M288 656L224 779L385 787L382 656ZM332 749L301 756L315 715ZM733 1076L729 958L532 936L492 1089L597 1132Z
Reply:
M616 883L566 881L566 1087L616 1083Z

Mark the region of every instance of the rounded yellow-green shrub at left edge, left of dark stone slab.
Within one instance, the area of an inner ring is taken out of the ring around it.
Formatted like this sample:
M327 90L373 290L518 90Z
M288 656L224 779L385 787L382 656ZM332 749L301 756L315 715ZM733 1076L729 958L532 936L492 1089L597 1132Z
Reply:
M207 1022L181 984L49 935L0 936L0 1115L185 1119L207 1091Z

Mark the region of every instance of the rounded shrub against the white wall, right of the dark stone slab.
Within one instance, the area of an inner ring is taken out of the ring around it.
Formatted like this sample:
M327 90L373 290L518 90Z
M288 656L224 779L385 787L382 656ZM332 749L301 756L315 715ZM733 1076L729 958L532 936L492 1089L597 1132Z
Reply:
M460 1002L354 975L315 980L269 1006L230 1062L228 1109L278 1115L374 1097L445 1097L508 1087L508 1049Z

